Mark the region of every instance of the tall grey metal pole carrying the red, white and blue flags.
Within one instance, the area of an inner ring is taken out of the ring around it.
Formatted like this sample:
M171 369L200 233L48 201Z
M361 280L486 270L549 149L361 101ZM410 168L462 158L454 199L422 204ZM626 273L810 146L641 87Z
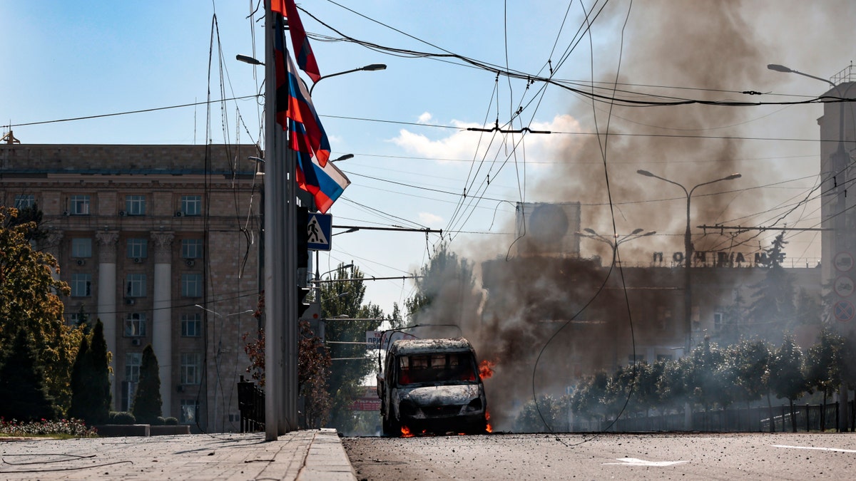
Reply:
M276 21L265 1L265 439L297 429L294 151L276 122Z

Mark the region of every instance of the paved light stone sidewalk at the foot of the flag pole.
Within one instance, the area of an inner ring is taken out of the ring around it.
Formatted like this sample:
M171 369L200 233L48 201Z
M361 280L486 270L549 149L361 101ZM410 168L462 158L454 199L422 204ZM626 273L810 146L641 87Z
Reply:
M356 479L336 430L184 436L0 437L0 479Z

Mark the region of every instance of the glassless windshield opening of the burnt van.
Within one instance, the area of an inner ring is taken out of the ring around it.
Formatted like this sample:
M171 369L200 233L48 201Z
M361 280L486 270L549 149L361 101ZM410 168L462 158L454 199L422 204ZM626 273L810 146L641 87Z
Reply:
M398 358L398 383L468 382L478 379L471 353L432 353Z

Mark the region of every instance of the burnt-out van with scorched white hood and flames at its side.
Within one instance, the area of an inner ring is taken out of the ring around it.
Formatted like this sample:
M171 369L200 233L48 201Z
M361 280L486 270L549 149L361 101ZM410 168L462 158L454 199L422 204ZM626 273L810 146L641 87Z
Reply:
M377 377L377 395L385 436L476 434L488 427L475 349L462 337L394 341Z

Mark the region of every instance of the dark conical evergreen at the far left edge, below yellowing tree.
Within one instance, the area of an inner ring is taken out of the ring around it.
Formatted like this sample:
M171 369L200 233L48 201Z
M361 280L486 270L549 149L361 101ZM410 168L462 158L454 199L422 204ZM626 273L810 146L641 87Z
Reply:
M45 388L44 372L36 362L26 330L0 356L0 417L18 421L55 419L56 407Z

